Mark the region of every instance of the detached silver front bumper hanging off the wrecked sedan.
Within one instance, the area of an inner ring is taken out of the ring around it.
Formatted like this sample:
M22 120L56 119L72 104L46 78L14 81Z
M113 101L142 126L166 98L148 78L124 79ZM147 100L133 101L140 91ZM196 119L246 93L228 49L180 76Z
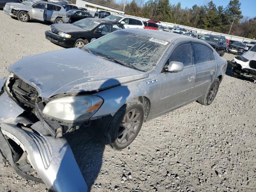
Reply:
M9 161L12 158L12 153L3 147L7 139L11 139L27 154L32 167L52 191L86 192L86 182L66 139L54 139L45 134L41 122L30 126L29 120L20 118L24 109L8 97L6 92L0 96L0 105L0 134L4 136L0 137L0 151L4 157ZM28 129L24 130L18 124Z

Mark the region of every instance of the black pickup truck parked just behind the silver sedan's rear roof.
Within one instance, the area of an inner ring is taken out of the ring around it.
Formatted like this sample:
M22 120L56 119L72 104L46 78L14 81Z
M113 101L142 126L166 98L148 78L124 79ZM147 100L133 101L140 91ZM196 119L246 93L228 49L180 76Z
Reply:
M206 34L199 39L204 40L210 44L217 51L217 53L220 54L220 56L224 56L228 48L228 44L224 36Z

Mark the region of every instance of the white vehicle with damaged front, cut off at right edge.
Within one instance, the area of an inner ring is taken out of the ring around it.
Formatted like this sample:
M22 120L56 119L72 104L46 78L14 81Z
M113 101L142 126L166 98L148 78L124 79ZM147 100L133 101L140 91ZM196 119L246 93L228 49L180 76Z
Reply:
M240 56L234 58L232 62L232 76L245 76L256 83L256 45Z

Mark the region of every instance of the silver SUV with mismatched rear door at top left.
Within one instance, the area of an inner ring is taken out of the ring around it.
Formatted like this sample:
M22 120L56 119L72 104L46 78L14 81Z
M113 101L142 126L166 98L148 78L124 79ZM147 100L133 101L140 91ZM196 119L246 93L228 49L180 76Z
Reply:
M66 10L63 6L54 2L26 0L22 3L6 3L4 13L18 18L21 22L35 19L52 23L63 23L62 17L66 15Z

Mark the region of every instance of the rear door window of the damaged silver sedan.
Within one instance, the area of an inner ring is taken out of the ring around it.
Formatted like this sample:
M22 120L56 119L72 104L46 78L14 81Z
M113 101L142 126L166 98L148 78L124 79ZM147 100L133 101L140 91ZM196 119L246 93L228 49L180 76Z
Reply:
M200 43L193 43L193 47L195 51L196 64L214 60L214 53L208 46Z

